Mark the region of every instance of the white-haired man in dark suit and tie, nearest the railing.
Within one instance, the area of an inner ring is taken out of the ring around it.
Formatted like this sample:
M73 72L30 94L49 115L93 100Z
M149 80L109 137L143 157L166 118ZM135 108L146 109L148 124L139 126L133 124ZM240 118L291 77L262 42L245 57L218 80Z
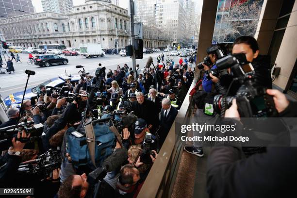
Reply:
M162 110L159 114L160 127L156 132L159 137L160 148L162 147L177 114L178 110L171 106L170 99L164 98L162 100Z

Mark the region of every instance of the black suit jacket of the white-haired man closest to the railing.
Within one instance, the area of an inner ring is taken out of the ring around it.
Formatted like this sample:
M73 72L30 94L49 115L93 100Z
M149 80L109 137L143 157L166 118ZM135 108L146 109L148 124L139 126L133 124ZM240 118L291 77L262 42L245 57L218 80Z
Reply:
M165 138L175 120L176 115L179 113L178 110L176 108L174 108L173 106L171 106L171 109L169 111L169 113L167 113L167 116L164 117L164 109L161 110L160 112L160 130L158 131L158 135L159 135L159 143L160 143L160 147L163 145Z

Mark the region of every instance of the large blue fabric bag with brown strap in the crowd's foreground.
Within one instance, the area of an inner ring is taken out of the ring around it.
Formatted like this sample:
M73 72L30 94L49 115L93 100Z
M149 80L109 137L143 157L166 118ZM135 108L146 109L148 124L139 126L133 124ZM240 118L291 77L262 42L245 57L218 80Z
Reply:
M71 157L71 163L78 168L81 165L88 165L95 169L102 165L103 161L113 153L115 148L115 134L106 123L89 123L93 127L95 148L89 148L85 130L87 127L73 127L67 130L66 151ZM87 125L87 124L86 124ZM88 138L89 140L91 138ZM92 145L91 145L92 146ZM92 146L92 147L93 147ZM94 150L94 156L90 155L90 150Z

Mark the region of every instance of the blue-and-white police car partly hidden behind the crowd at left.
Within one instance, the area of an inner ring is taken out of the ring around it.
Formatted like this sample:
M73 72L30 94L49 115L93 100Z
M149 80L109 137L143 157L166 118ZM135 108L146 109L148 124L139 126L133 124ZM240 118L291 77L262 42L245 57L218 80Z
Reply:
M81 77L79 75L75 75L75 76L70 76L70 77L69 76L59 76L59 77L49 79L49 80L42 82L41 84L39 84L33 88L26 89L24 99L25 100L31 99L31 97L37 96L37 93L40 91L39 86L41 86L41 85L62 87L63 85L65 85L66 79L70 80L72 85L74 85L74 83L78 82L81 79ZM10 107L11 105L17 105L17 104L20 105L20 103L22 102L23 93L24 93L24 91L19 91L19 92L10 94L8 97L6 97L4 99L5 105L7 107Z

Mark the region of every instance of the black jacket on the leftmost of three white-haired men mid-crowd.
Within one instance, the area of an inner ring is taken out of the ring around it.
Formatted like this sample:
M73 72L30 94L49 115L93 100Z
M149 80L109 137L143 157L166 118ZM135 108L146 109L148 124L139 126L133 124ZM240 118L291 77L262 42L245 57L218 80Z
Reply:
M144 99L144 102L139 104L137 100L135 100L132 102L131 109L138 118L146 120L148 125L152 124L156 126L157 113L152 101Z

